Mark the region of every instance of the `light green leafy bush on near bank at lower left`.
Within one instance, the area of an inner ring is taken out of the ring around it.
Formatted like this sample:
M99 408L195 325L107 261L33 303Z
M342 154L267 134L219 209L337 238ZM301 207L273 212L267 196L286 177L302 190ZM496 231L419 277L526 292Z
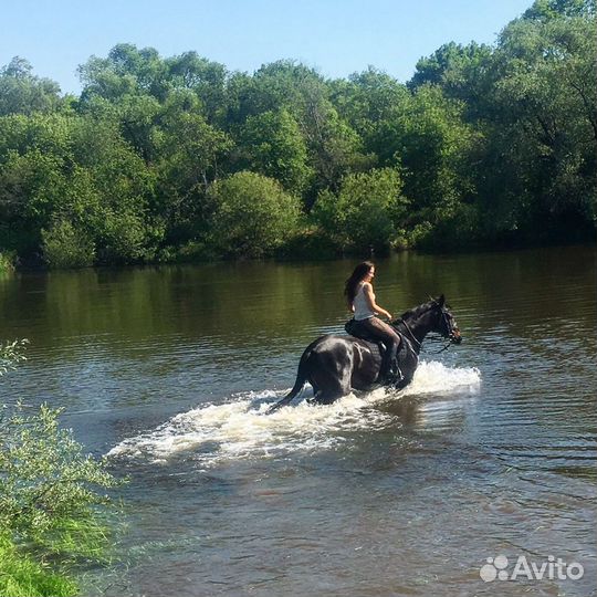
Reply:
M0 420L0 526L43 557L98 557L106 530L94 506L107 498L93 488L116 480L59 427L59 413L18 406Z

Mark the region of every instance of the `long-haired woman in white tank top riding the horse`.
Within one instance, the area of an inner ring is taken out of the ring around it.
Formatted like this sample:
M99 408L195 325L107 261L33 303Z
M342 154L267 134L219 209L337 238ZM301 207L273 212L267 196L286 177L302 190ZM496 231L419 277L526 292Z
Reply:
M375 264L370 261L364 261L355 268L346 281L344 294L355 320L350 333L356 336L364 335L380 339L386 345L387 349L381 362L379 379L385 383L394 383L399 373L396 355L400 345L400 336L394 327L376 317L377 314L380 314L391 320L391 314L375 302L371 284L374 277Z

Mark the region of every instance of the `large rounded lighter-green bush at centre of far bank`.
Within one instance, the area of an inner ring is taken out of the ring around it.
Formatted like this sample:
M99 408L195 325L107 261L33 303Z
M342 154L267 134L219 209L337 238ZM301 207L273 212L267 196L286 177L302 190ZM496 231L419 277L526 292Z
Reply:
M238 172L213 184L210 240L226 256L270 255L294 235L298 222L298 200L279 182L254 172Z

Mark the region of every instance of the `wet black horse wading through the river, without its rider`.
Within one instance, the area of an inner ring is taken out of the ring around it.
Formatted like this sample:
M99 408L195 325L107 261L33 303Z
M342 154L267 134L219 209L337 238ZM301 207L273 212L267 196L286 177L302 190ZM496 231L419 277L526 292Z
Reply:
M391 322L402 342L398 352L398 366L402 378L396 385L404 388L415 376L421 344L430 332L439 333L450 343L460 344L462 336L450 313L443 294L423 303ZM329 405L352 389L371 390L380 385L384 346L354 336L328 334L312 342L298 363L294 387L279 402L270 407L273 412L286 406L308 381L313 386L313 402Z

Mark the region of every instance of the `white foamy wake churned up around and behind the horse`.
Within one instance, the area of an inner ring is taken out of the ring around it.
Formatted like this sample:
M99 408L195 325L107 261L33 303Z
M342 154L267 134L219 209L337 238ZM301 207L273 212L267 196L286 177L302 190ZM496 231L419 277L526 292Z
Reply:
M265 415L285 392L248 392L224 404L201 405L177 415L153 431L125 439L108 455L165 461L176 453L190 452L209 467L222 459L328 449L346 441L346 432L397 423L395 416L367 408L375 402L404 395L474 391L479 385L476 369L449 368L431 362L420 364L405 390L389 396L378 389L365 397L349 395L333 405L316 407L303 398ZM304 390L303 396L310 394Z

